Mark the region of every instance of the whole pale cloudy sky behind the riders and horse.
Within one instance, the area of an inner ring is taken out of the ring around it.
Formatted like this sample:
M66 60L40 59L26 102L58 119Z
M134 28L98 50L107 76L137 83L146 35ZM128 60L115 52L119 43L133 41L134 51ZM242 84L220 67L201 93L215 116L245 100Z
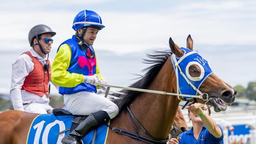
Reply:
M74 17L93 10L103 25L93 44L100 73L109 84L128 86L149 65L142 59L153 50L169 49L169 37L194 50L213 72L232 86L256 81L256 1L254 0L1 0L0 93L9 93L11 64L27 50L29 30L46 24L53 37L50 58L72 37ZM57 93L53 90L53 93Z

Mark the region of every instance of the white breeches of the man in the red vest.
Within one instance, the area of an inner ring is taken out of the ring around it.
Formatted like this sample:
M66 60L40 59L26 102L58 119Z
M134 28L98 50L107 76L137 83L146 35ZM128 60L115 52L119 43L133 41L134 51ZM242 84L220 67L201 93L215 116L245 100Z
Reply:
M52 109L48 102L30 102L24 105L24 111L28 113L47 114L47 111Z

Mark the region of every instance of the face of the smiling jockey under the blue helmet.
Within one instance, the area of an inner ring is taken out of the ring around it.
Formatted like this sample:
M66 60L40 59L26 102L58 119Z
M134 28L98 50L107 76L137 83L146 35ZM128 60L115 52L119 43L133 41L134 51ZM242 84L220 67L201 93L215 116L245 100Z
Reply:
M92 46L93 42L96 39L96 35L98 31L99 30L96 28L87 27L85 31L85 35L83 36L83 41L85 41L88 44L88 46Z

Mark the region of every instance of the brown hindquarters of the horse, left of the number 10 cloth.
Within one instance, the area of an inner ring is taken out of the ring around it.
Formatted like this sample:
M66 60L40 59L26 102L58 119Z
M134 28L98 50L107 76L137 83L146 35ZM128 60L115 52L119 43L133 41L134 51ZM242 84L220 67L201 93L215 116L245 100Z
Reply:
M0 114L0 144L26 144L28 131L38 114L6 111Z

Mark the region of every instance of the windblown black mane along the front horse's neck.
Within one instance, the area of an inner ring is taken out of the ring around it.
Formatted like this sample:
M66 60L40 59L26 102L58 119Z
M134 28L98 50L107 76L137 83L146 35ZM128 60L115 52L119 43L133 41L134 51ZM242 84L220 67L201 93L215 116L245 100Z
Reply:
M147 89L148 84L152 82L152 80L158 74L163 64L168 59L168 57L171 56L171 54L172 54L171 50L154 51L152 52L152 54L147 54L147 57L150 59L143 59L145 61L143 63L153 64L153 65L143 69L142 72L146 72L146 74L144 76L137 78L139 80L134 84L130 85L129 87L137 88L137 89ZM125 95L113 94L113 96L122 98L122 99L113 100L113 102L117 104L117 106L119 107L119 113L126 107L126 105L129 105L137 95L141 94L141 92L138 92L138 91L124 90L124 89L121 90L120 92L125 93Z

